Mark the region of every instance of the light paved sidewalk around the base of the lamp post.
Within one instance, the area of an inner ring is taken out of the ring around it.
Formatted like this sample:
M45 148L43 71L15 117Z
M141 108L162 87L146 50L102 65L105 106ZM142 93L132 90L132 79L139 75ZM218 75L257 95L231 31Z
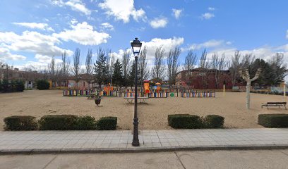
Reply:
M0 154L288 148L288 129L0 132Z

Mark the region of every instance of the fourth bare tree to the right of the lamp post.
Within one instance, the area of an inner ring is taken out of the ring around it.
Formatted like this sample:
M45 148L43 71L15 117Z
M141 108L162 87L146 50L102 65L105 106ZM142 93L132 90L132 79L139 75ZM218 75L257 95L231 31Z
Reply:
M191 85L191 79L193 79L192 69L195 68L197 61L197 55L193 53L192 50L189 50L186 57L185 57L185 63L184 63L184 69L186 70L186 83L188 86Z

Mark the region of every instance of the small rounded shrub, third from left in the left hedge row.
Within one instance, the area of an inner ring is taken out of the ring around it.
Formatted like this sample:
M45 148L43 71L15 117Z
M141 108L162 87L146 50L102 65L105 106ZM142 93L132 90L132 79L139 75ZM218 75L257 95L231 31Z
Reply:
M76 130L95 130L95 118L91 116L78 117L76 121Z

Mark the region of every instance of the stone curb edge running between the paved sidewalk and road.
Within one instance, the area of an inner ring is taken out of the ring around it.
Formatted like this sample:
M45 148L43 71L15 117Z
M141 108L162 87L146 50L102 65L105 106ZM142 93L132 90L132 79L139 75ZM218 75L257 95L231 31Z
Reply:
M231 145L231 146L169 146L138 148L95 148L95 149L11 149L0 150L0 155L11 154L103 154L103 153L142 153L164 151L210 151L210 150L260 150L288 149L288 144Z

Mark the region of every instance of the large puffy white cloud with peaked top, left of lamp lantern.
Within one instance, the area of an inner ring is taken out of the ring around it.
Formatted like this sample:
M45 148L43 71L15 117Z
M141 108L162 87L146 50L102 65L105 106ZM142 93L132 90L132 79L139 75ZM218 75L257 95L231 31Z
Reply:
M59 34L54 33L53 37L63 39L64 41L73 41L83 45L98 45L107 43L109 34L104 32L97 32L88 23L78 23L77 25L71 25L72 30L64 30Z

